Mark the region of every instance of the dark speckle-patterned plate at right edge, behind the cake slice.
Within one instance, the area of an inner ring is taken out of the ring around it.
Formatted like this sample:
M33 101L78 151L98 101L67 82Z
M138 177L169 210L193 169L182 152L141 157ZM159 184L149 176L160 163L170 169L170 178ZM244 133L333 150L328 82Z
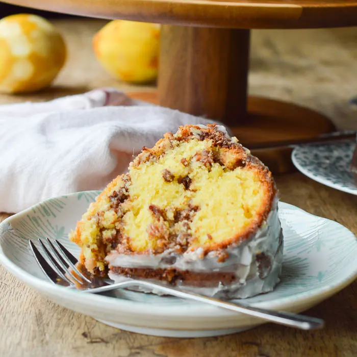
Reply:
M354 142L298 146L292 161L304 175L323 185L357 195L357 185L349 170Z

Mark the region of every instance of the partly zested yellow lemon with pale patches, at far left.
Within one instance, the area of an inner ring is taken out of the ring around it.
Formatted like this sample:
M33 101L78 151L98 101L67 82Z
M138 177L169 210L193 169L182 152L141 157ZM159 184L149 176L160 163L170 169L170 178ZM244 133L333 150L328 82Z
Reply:
M47 87L65 59L61 34L44 18L18 14L0 20L0 92L32 92Z

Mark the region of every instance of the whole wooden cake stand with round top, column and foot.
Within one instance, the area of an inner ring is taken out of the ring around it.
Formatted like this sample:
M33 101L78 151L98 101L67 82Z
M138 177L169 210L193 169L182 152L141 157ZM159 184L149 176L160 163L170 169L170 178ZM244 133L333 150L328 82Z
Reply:
M62 13L163 23L157 93L133 96L219 119L240 142L305 139L334 130L322 114L247 96L250 29L357 25L357 2L342 0L14 0ZM291 168L289 149L254 152L274 172Z

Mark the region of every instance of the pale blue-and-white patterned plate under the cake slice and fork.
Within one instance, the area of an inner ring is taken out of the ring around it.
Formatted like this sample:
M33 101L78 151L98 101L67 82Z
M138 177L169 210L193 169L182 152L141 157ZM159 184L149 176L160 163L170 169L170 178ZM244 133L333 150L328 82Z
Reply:
M49 283L28 240L57 238L73 254L67 235L98 192L49 199L0 224L0 262L50 300L109 325L148 335L218 336L264 323L194 301L119 290L116 296L83 294ZM245 299L258 307L301 312L337 293L357 275L357 242L342 225L279 203L285 236L282 281L268 294ZM81 298L79 298L79 294ZM323 316L320 316L323 318Z

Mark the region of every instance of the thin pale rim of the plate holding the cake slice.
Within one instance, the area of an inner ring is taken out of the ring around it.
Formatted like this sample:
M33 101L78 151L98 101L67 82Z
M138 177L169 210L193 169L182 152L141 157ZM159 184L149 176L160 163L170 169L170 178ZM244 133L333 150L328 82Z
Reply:
M99 193L100 191L93 190L93 191L81 191L81 192L88 192L88 193ZM10 216L6 218L2 223L0 223L0 226L3 226L5 224L10 223L12 220L17 220L21 218L23 215L26 215L28 212L30 212L32 209L42 205L42 203L52 200L52 199L58 199L58 198L64 198L64 197L69 197L73 198L75 196L78 196L79 193L81 192L74 192L71 194L67 195L61 195L58 197L52 197L49 199L46 199L42 202L37 203L36 205L21 211L13 216ZM285 209L294 209L294 210L299 210L303 214L307 214L310 216L313 216L315 218L321 218L326 221L328 221L330 224L338 226L340 229L347 231L346 233L350 234L354 238L355 235L353 232L348 230L345 226L342 224L335 222L333 220L330 220L328 218L323 218L319 217L316 215L313 215L309 212L306 212L294 205L291 205L290 203L286 202L279 202L279 206L285 206ZM357 244L357 242L356 242ZM31 288L35 288L37 291L40 291L41 294L44 294L44 291L49 291L51 294L56 294L56 295L62 295L64 299L68 298L70 300L75 299L76 297L78 298L78 292L77 291L71 291L66 289L65 287L57 286L54 285L50 282L45 281L44 279L38 278L36 276L33 276L32 274L28 273L27 271L21 269L18 267L15 263L10 261L5 256L5 253L3 251L2 245L0 244L0 263L16 278L18 278L21 282L23 282L25 285L30 286ZM277 310L277 309L288 309L289 307L293 306L295 303L302 304L305 301L308 301L311 298L316 298L320 301L324 300L325 298L334 295L335 293L341 291L343 288L351 284L355 279L357 278L357 261L355 263L355 267L352 267L352 271L349 274L346 274L343 279L341 279L337 284L332 284L332 285L325 285L323 287L320 287L319 289L316 290L310 290L306 292L300 292L296 294L297 298L293 299L292 301L292 296L286 296L282 298L278 298L275 300L271 301L260 301L260 302L254 302L252 305L256 307L261 307L261 308L269 308L271 310ZM47 294L45 294L47 295ZM155 313L151 313L147 311L147 303L145 302L140 302L140 301L133 301L133 300L125 300L125 299L115 299L115 298L108 298L107 296L100 296L96 294L87 294L87 305L92 304L92 305L100 305L101 303L106 304L106 307L108 308L116 308L119 310L126 310L129 307L133 306L133 303L135 304L135 314L145 314L145 316L170 316L171 318L174 317L193 317L195 316L196 318L200 317L207 317L209 315L210 318L213 319L221 319L221 318L227 318L227 317L232 317L236 316L238 317L239 314L232 315L232 312L229 312L224 309L218 309L215 308L211 305L202 305L200 309L196 309L197 305L194 304L188 304L188 305L183 305L180 307L180 309L172 309L172 305L168 306L160 306L160 309L155 309ZM119 302L120 301L120 302ZM187 328L184 328L187 329Z

